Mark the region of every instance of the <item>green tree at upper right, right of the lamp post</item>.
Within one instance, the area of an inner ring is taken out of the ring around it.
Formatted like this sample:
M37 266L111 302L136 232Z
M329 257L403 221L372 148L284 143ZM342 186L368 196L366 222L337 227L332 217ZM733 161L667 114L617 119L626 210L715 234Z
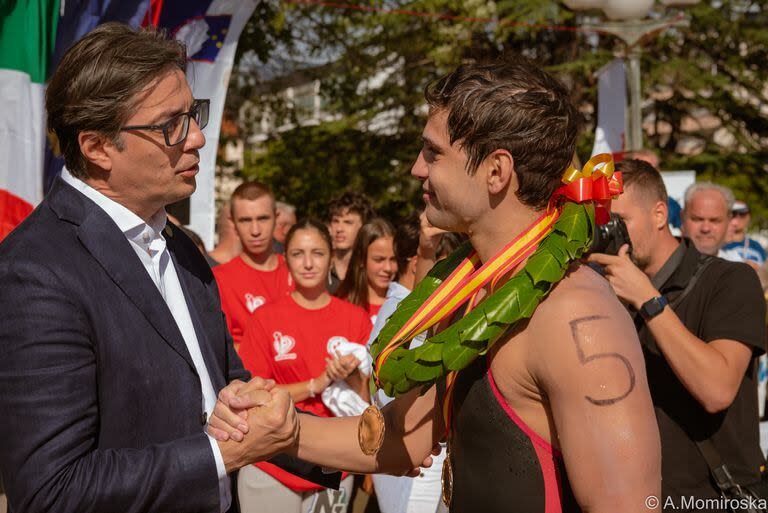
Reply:
M750 204L753 219L768 227L768 3L705 2L690 15L690 29L667 32L645 53L646 91L666 93L649 113L656 126L671 128L669 135L654 130L650 146L666 168L694 169L700 179L731 187ZM704 112L721 121L719 137L713 129L686 130L691 115ZM676 151L684 137L698 139L701 152Z

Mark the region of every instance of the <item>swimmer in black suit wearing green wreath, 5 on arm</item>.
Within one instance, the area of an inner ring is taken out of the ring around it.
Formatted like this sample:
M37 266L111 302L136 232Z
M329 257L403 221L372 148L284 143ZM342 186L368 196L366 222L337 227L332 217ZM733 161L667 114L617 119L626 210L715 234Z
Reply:
M464 65L426 98L412 174L430 223L471 245L430 271L372 346L375 384L398 398L359 421L301 415L291 452L404 474L447 438L452 512L657 510L659 435L640 345L608 283L580 262L621 192L610 157L569 169L577 112L522 58ZM220 396L217 436L255 405L239 387Z

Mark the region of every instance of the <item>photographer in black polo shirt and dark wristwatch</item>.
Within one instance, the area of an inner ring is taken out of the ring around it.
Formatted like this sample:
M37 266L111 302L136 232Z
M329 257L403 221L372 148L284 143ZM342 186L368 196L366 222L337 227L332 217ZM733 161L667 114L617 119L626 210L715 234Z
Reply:
M758 481L764 464L755 364L764 352L765 300L748 266L672 236L666 189L652 166L627 160L617 169L625 192L612 210L626 223L631 256L623 245L618 255L589 259L604 267L635 319L661 434L664 501L717 498L713 459L739 484Z

